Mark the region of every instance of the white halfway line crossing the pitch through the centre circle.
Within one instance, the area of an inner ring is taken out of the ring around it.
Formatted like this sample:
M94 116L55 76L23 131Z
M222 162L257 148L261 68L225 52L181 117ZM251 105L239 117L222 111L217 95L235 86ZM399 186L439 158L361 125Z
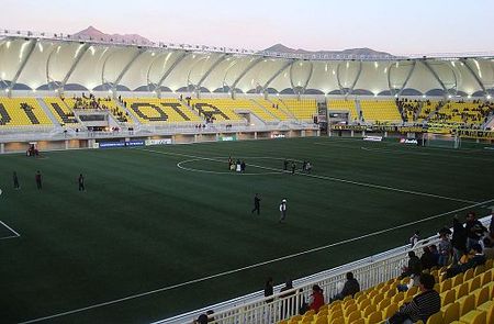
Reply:
M137 150L143 150L143 152L150 152L150 153L155 153L155 154L183 156L183 157L188 157L188 158L195 158L195 159L202 159L202 160L211 160L211 161L224 163L224 160L220 160L217 158L193 156L193 155L181 154L181 153L167 153L167 152L162 152L162 150L146 149L146 148L136 148L136 149ZM279 172L285 172L285 174L290 174L291 172L291 171L284 171L282 169L265 167L265 166L258 166L258 165L254 165L254 164L247 164L247 166L256 167L256 168L260 168L260 169L265 169L265 170L270 170L270 171L279 171ZM335 177L316 176L316 175L303 174L303 172L296 172L296 175L305 176L305 177L310 177L310 178L315 178L315 179L329 180L329 181L334 181L334 182L343 182L343 183L347 183L347 185L355 185L355 186L360 186L360 187L368 187L368 188L374 188L374 189L380 189L380 190L389 190L389 191L402 192L402 193L414 194L414 195L437 198L437 199L444 199L444 200L450 200L450 201L457 201L457 202L463 202L463 203L476 203L476 201L472 201L472 200L465 200L465 199L460 199L460 198L451 198L451 197L446 197L446 195L440 195L440 194L435 194L435 193L428 193L428 192L422 192L422 191L413 191L413 190L400 189L400 188L381 186L381 185L374 185L374 183L352 181L352 180L335 178Z

